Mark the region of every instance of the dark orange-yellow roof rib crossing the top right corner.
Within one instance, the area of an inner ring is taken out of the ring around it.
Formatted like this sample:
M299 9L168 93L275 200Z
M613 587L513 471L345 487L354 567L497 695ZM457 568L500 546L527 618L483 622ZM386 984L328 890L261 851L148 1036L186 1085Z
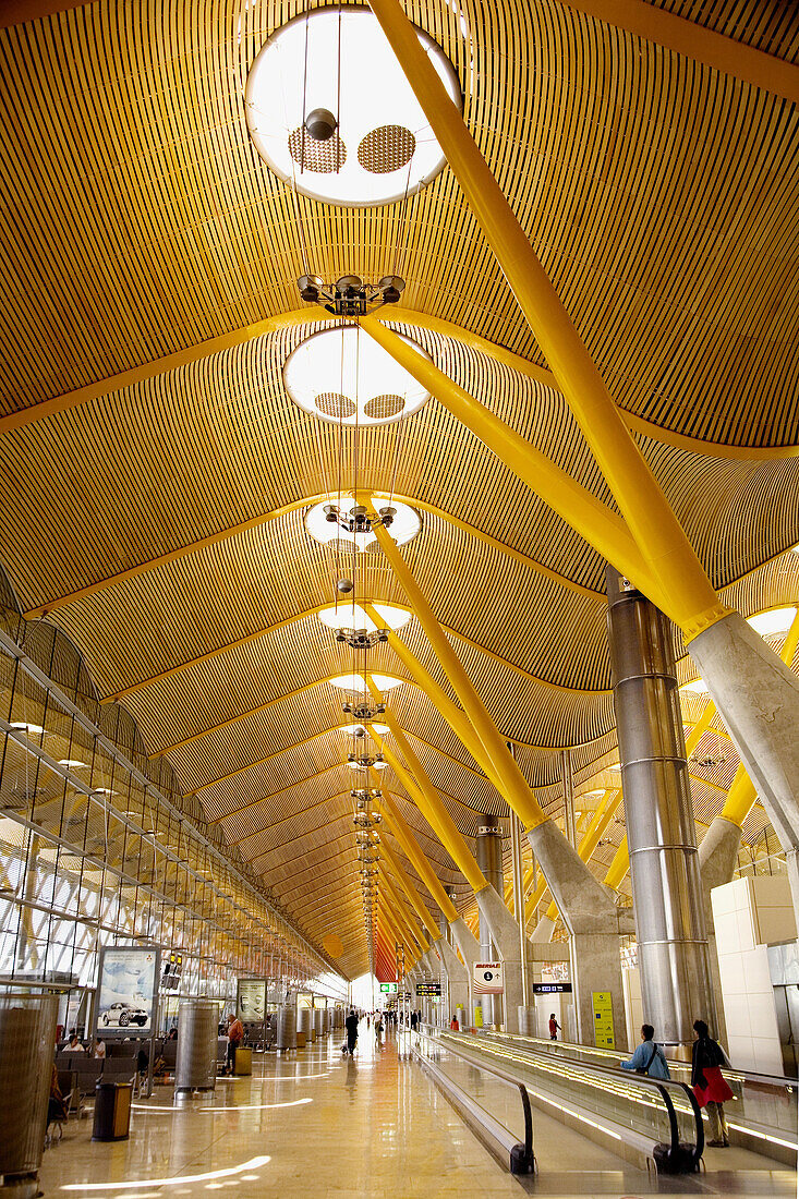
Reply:
M644 0L557 0L714 71L799 103L799 67Z

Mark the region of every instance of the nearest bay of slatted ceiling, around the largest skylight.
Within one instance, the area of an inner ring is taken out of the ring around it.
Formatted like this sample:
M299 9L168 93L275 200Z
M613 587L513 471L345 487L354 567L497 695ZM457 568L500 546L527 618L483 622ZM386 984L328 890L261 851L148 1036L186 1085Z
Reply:
M202 17L103 0L4 32L24 351L8 406L288 307L298 209L316 270L385 269L398 206L298 205L248 144L247 65L293 12L248 10L240 42L218 0ZM795 441L791 106L554 2L470 6L468 41L437 5L411 13L461 70L467 120L619 402L714 440ZM405 240L409 302L535 355L449 173Z

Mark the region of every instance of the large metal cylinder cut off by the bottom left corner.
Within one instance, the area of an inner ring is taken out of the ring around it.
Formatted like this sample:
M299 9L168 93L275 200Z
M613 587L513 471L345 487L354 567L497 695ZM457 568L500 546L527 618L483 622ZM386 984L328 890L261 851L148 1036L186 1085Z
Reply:
M55 1046L55 995L0 996L0 1193L38 1192Z

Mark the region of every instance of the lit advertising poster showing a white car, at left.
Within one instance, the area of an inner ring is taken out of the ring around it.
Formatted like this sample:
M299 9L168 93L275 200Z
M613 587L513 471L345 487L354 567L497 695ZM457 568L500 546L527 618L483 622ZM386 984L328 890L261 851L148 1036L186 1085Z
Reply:
M103 1037L152 1032L160 956L155 945L101 950L96 1024Z

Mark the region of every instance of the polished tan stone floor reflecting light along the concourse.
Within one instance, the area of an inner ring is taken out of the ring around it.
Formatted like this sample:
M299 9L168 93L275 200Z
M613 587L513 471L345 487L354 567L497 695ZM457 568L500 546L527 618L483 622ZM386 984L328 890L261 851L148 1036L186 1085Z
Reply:
M707 1171L650 1180L563 1125L534 1113L540 1174L519 1181L473 1137L422 1070L361 1028L290 1058L256 1061L252 1078L220 1080L212 1099L175 1108L170 1087L137 1102L130 1140L94 1144L70 1122L44 1155L44 1195L172 1199L263 1195L636 1197L795 1195L797 1175L741 1150L708 1151Z

